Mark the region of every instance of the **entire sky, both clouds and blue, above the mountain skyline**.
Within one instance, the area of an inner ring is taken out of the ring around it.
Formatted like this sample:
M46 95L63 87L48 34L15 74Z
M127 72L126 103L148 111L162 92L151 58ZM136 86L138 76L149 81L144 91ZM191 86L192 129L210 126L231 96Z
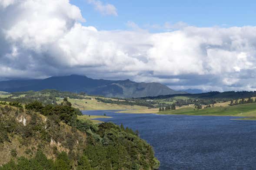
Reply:
M0 80L79 74L256 90L252 0L0 0Z

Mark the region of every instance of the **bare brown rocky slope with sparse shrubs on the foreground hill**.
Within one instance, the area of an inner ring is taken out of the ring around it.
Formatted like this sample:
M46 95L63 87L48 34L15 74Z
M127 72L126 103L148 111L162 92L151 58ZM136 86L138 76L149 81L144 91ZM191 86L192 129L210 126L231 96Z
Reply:
M46 128L47 127L47 128ZM86 147L86 134L60 122L45 118L43 115L21 111L14 107L0 105L0 166L13 159L11 150L17 157L30 158L40 147L50 159L58 152L82 154L80 148ZM30 153L28 154L28 150Z

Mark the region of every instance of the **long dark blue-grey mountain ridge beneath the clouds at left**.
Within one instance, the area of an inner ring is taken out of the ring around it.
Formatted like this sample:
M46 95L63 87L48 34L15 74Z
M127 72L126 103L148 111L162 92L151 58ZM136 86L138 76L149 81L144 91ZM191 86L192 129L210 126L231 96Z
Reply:
M127 80L103 80L83 75L50 77L46 79L10 80L0 82L0 91L24 92L56 89L68 92L86 92L105 97L139 98L146 96L184 94L160 83L137 83Z

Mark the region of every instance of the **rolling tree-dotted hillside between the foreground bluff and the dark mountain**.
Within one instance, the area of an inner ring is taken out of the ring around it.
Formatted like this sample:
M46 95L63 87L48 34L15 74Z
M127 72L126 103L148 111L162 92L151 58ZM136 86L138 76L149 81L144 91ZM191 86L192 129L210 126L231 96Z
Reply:
M126 99L103 98L57 90L43 90L39 92L13 92L0 95L0 101L18 101L22 104L40 101L43 104L60 104L63 98L69 98L74 108L80 110L134 110L146 109L152 106L147 102L131 101Z

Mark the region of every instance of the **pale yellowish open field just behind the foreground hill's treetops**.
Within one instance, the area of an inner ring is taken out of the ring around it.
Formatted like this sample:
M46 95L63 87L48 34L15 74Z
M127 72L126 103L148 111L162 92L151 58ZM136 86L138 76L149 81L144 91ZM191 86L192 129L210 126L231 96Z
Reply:
M71 102L74 108L79 108L80 110L131 110L131 109L146 109L145 106L137 105L117 105L111 103L99 102L95 99L72 99L69 98L68 101ZM62 99L57 98L57 103L60 104Z

